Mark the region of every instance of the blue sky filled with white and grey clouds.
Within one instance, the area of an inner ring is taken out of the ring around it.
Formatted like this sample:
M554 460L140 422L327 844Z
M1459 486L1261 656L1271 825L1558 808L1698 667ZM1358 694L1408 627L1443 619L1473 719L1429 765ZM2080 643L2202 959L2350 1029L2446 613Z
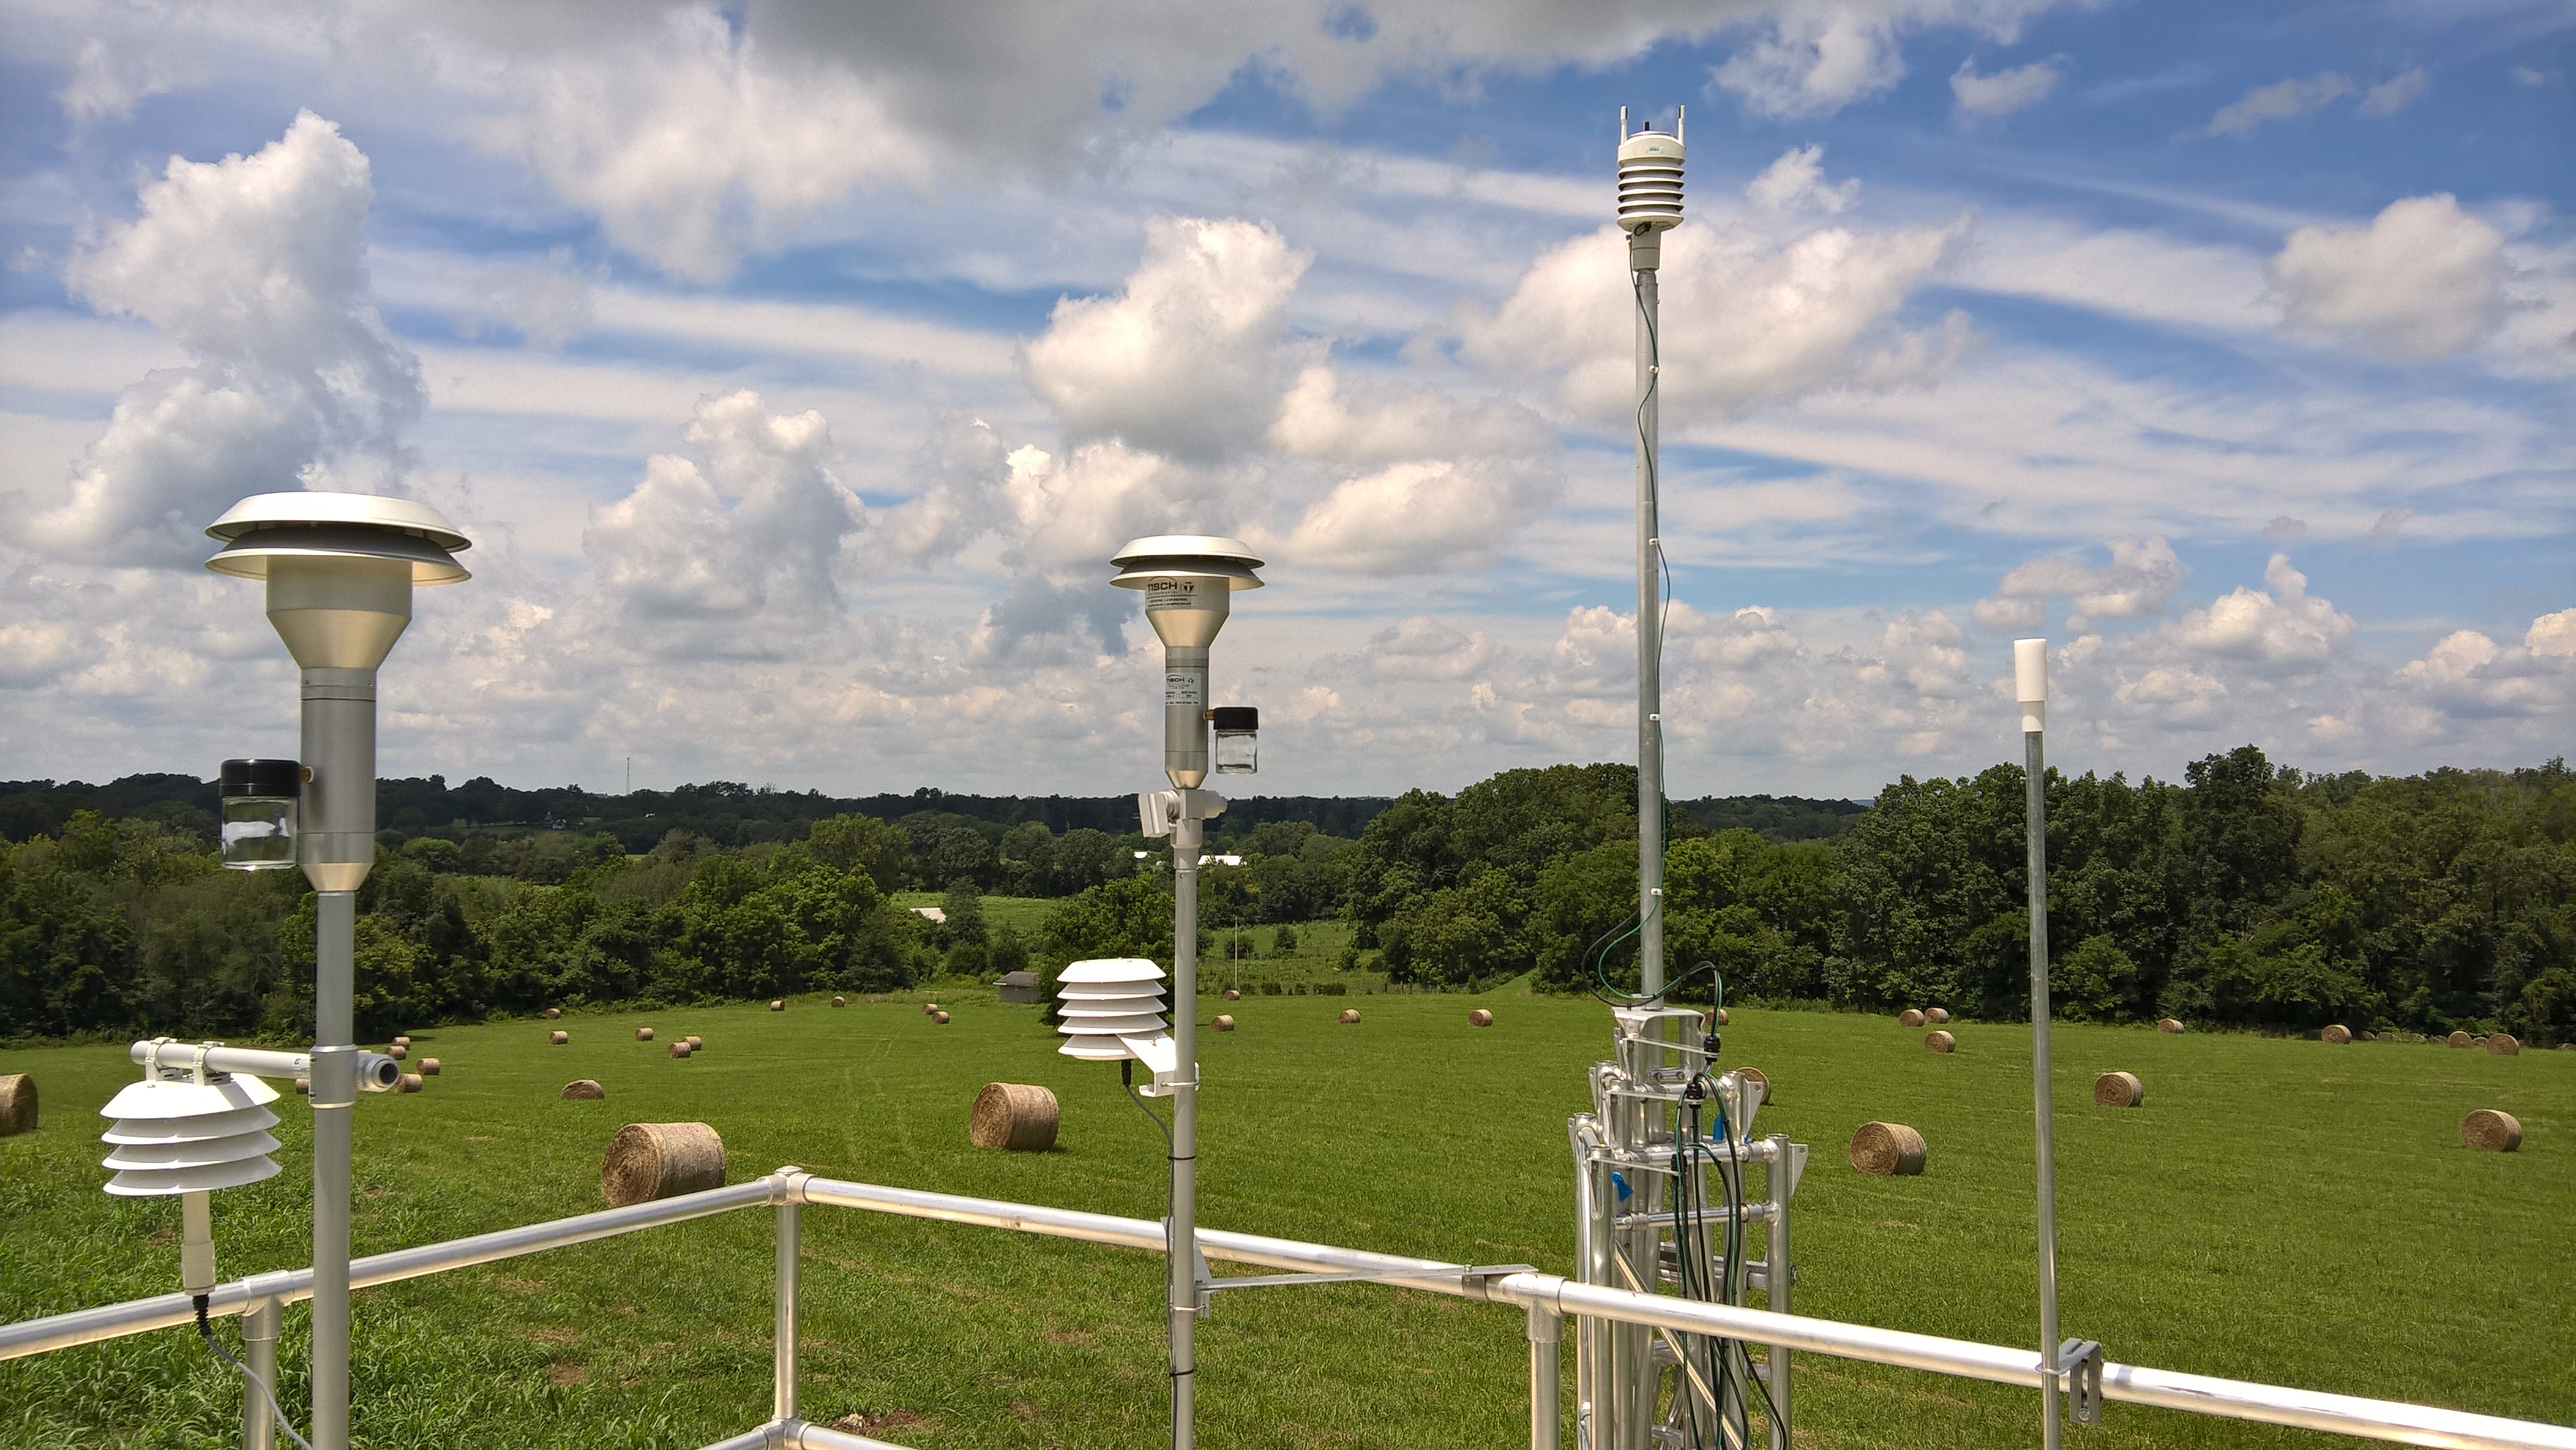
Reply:
M474 546L379 773L1229 793L2576 742L2576 5L0 0L0 778L294 755L237 497Z

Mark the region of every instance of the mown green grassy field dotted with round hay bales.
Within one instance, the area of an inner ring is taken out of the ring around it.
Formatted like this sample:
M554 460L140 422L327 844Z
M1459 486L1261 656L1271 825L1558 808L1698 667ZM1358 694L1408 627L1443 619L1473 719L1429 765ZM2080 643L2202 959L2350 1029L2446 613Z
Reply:
M1154 1218L1162 1141L1115 1071L1054 1053L1036 1007L943 986L788 1012L711 1007L415 1035L446 1074L358 1107L358 1249L381 1252L595 1208L608 1136L708 1120L734 1180L835 1177ZM1587 999L1247 994L1203 1035L1206 1223L1564 1270L1564 1120L1607 1022ZM1473 1004L1492 1030L1468 1030ZM1200 1002L1200 1015L1216 1004ZM634 1043L706 1035L670 1061ZM1989 1342L2035 1339L2027 1028L1958 1025L1932 1056L1893 1020L1741 1012L1726 1059L1770 1071L1757 1131L1816 1146L1801 1185L1798 1308ZM2576 1053L2156 1035L2061 1028L2066 1332L2112 1360L2576 1419ZM2141 1110L2092 1105L2138 1071ZM0 1319L178 1288L178 1208L98 1192L95 1107L118 1048L0 1053L33 1071L44 1128L0 1138ZM605 1102L559 1102L595 1077ZM1054 1154L966 1146L984 1082L1064 1102ZM286 1172L216 1195L227 1277L304 1262L307 1115ZM2458 1123L2504 1107L2519 1154ZM1932 1144L1914 1180L1844 1164L1857 1123ZM1164 1422L1159 1259L984 1229L806 1213L806 1414L866 1417L922 1447L1151 1445ZM770 1218L750 1210L368 1290L358 1301L363 1445L693 1447L768 1411ZM289 1365L301 1362L289 1311ZM1376 1285L1221 1295L1200 1339L1200 1427L1229 1447L1466 1447L1522 1435L1520 1313ZM229 1337L232 1326L222 1326ZM2032 1445L2035 1396L1798 1360L1801 1445ZM301 1373L289 1373L301 1404ZM0 1445L222 1445L237 1386L193 1332L0 1362ZM2071 1445L2076 1440L2069 1440ZM2112 1406L2081 1445L2324 1445Z

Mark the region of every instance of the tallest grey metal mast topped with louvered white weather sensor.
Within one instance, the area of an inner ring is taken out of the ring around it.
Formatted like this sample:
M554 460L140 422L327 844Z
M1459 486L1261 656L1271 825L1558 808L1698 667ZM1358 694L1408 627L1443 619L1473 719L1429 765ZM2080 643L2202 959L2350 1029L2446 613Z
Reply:
M1682 224L1682 131L1628 131L1618 108L1618 224L1628 232L1636 291L1636 968L1641 992L1664 989L1664 536L1656 479L1656 381L1662 325L1654 273L1664 232Z

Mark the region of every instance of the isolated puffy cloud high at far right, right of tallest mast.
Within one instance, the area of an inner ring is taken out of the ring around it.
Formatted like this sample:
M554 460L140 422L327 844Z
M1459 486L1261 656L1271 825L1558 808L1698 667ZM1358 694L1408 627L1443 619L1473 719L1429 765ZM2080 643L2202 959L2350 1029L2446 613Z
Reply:
M2504 234L2450 193L2391 201L2362 224L2300 227L2264 270L2285 327L2403 363L2476 348L2512 306Z

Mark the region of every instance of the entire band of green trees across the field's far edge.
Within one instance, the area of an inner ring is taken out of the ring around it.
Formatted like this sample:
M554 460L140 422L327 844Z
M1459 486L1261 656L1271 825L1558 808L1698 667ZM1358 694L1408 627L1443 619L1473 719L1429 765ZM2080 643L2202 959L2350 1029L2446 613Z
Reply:
M1909 775L1847 811L1690 806L1667 816L1674 976L1705 961L1734 999L2022 1012L2020 767ZM75 806L0 847L0 1038L309 1033L301 876L219 871L211 819L188 809ZM2050 773L2053 994L2105 1022L2568 1040L2571 832L2576 778L2558 760L2306 775L2244 747L2179 783ZM1504 770L1386 801L1355 840L1257 819L1213 845L1242 865L1206 871L1203 927L1342 917L1358 927L1342 966L1396 981L1636 986L1633 767ZM1167 958L1170 873L1144 847L933 809L842 811L734 845L665 827L647 850L616 832L389 829L361 891L361 1030ZM896 909L907 889L945 889L948 922ZM987 927L989 891L1061 901L1023 935ZM1705 974L1685 992L1705 999Z

